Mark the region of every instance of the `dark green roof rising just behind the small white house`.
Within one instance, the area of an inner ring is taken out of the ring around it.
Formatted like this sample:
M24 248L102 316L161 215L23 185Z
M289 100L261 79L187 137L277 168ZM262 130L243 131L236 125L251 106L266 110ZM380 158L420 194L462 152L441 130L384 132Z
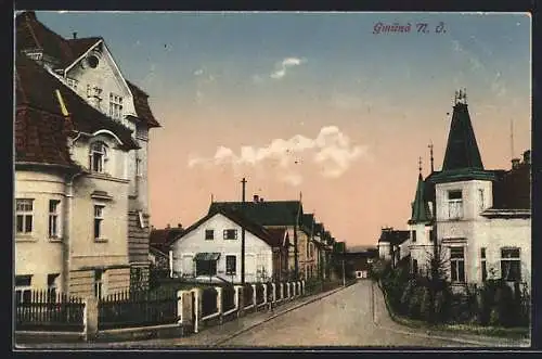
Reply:
M218 208L238 211L242 206L242 202L214 202L209 213ZM299 201L245 202L243 213L260 226L295 226L298 218L300 222L302 205Z

